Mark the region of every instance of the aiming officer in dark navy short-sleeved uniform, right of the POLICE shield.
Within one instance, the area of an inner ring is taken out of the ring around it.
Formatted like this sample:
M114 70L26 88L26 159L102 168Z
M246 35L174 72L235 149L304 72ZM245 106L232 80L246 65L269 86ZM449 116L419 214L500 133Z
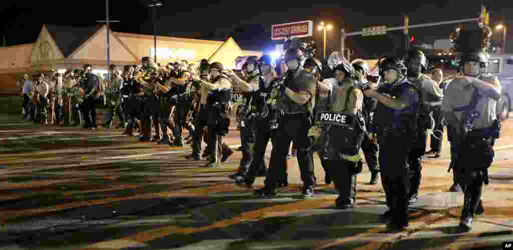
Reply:
M364 94L378 100L373 122L380 145L381 182L389 208L382 218L391 219L389 227L402 229L408 226L410 176L407 161L416 137L414 121L419 92L408 82L402 59L388 57L379 63L385 84L379 89L371 84Z

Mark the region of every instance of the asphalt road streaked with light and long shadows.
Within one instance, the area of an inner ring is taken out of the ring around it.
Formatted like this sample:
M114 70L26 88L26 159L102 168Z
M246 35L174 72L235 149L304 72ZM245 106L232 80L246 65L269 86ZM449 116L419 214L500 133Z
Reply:
M2 116L0 249L502 249L513 240L513 121L503 128L483 193L485 215L471 232L457 228L463 194L448 192L446 141L441 158L424 161L410 226L394 232L378 219L386 210L383 188L367 184L366 166L357 207L336 210L337 193L324 184L317 157L313 199L300 199L295 158L289 160L290 186L278 198L258 199L227 177L238 168L240 152L209 169L206 161L184 158L189 145L140 143L121 129L41 126ZM238 147L238 131L230 130L226 142Z

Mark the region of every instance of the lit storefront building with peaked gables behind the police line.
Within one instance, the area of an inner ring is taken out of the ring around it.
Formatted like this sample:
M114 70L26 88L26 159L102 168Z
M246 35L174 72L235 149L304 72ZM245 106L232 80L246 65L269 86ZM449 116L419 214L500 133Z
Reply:
M65 71L91 64L96 72L107 69L107 33L110 43L110 63L139 64L143 56L154 56L152 35L107 32L107 26L66 27L43 25L34 43L0 48L0 94L17 93L16 81L24 73ZM201 59L221 62L227 69L235 68L238 56L261 56L259 51L242 50L230 37L224 42L156 37L157 63Z

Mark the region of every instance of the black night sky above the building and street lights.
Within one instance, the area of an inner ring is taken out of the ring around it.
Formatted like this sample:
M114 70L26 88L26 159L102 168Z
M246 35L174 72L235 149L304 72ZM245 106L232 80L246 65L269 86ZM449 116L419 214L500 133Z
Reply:
M48 4L48 3L53 4ZM111 24L117 32L153 34L152 13L147 8L151 1L110 0ZM133 2L133 3L132 3ZM196 39L225 40L232 35L243 48L270 51L272 41L271 25L312 20L313 36L303 39L315 40L318 52L321 50L321 33L317 25L324 21L334 26L328 31L328 52L340 50L340 29L346 32L361 31L364 27L387 25L401 26L403 15L409 15L410 25L460 20L478 17L480 4L462 1L448 4L401 4L398 1L384 1L369 5L368 1L348 1L344 4L286 4L277 2L240 1L240 4L198 5L188 1L164 0L157 9L157 34L165 36L189 37ZM182 2L182 4L180 4ZM413 2L413 1L411 1ZM491 2L491 1L487 1ZM500 3L502 2L502 3ZM513 52L513 1L488 3L490 25L506 22L508 25L508 52ZM31 4L29 4L31 3ZM45 4L46 3L46 4ZM235 3L235 2L234 2ZM464 3L464 4L462 4ZM198 7L200 6L200 7ZM8 1L0 3L2 10L2 30L0 35L7 37L7 46L32 43L37 39L43 24L94 25L97 20L105 20L105 1ZM507 16L509 14L509 16ZM447 39L455 25L410 29L417 43L432 44L437 39ZM394 53L400 42L402 31L389 32L380 36L352 36L346 40L356 56L371 57ZM494 39L502 43L502 31L495 32ZM354 58L354 57L353 57Z

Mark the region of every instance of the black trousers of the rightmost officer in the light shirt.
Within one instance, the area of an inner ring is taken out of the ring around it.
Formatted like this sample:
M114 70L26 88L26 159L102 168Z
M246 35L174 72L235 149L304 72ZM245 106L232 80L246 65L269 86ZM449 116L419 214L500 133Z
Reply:
M488 181L488 167L494 161L494 149L491 138L467 136L461 144L461 153L456 163L457 179L462 186L464 196L462 218L472 218L476 213L483 183Z

